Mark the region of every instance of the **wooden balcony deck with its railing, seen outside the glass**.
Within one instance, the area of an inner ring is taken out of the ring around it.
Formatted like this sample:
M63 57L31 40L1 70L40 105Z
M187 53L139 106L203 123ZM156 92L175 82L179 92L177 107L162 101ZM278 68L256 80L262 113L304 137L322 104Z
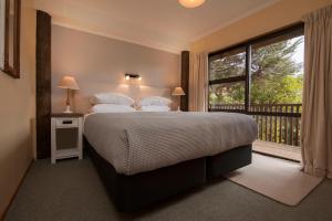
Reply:
M302 104L210 104L209 110L251 115L258 126L253 151L301 160Z

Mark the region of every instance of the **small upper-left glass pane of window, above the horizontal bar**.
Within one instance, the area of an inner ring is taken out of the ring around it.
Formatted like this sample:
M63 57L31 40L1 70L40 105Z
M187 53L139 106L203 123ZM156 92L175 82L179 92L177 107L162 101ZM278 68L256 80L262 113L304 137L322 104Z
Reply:
M241 75L246 75L246 49L241 48L210 57L210 81Z

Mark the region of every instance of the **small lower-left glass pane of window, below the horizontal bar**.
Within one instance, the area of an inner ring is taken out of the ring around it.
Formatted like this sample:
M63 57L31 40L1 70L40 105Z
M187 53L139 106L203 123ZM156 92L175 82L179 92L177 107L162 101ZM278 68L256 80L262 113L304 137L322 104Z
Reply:
M245 109L245 82L209 86L210 109Z

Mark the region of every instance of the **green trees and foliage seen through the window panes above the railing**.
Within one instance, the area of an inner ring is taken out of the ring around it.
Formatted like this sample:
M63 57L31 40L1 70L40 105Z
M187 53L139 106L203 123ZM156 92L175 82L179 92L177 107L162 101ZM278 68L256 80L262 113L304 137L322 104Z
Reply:
M303 74L301 63L292 56L303 38L268 45L253 45L251 57L252 104L301 103ZM210 63L210 80L245 75L246 54L242 51L224 54ZM243 104L245 84L210 86L211 104Z

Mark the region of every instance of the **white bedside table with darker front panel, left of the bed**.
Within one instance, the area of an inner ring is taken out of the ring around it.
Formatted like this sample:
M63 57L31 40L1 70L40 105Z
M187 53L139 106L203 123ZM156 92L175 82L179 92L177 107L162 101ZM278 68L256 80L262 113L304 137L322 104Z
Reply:
M51 162L56 159L82 159L83 114L51 115Z

